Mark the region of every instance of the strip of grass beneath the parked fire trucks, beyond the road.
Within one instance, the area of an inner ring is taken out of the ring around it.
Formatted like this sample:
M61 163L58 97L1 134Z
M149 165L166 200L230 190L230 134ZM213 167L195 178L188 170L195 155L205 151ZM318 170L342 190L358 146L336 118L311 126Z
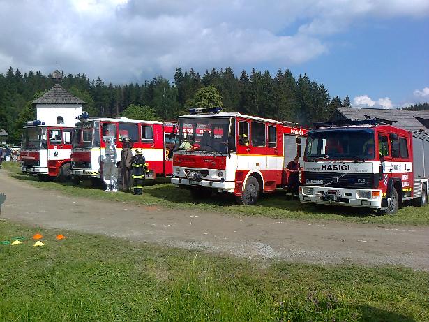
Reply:
M358 223L374 224L401 224L401 225L429 225L429 207L402 208L394 216L379 216L377 212L370 210L353 209L349 207L320 207L306 205L297 200L285 200L285 193L278 191L267 195L259 200L257 205L239 206L234 205L232 196L213 196L205 200L193 200L189 191L177 189L172 184L163 180L153 184L153 180L146 180L143 196L133 196L130 193L109 193L108 195L100 189L93 189L89 182L83 182L80 186L72 186L70 183L39 182L36 177L22 175L17 163L3 163L3 168L18 180L30 182L34 186L43 189L55 189L70 196L87 198L109 198L109 200L126 201L143 205L159 205L163 207L191 208L208 212L226 212L230 214L245 214L265 217L276 217L279 219L306 219L306 220L341 220Z

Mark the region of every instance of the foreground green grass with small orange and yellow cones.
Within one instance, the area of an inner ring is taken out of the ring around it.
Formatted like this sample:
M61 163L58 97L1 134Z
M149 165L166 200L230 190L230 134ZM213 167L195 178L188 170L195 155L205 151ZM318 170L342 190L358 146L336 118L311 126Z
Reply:
M33 247L41 233L45 247ZM55 240L55 235L66 235ZM246 261L0 221L0 321L429 321L429 274Z

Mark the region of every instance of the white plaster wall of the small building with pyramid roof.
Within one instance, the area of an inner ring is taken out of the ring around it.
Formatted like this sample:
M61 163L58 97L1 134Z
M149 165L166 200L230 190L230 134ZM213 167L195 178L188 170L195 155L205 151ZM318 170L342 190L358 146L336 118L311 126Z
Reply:
M57 124L57 116L62 116L66 126L74 126L77 115L82 114L82 104L37 104L37 118L45 124Z

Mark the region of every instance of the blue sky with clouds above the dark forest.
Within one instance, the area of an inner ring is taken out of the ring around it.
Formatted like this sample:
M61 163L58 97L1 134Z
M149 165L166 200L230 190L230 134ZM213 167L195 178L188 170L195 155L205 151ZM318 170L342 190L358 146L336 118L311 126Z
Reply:
M0 0L0 30L3 74L289 68L352 105L429 101L429 0Z

